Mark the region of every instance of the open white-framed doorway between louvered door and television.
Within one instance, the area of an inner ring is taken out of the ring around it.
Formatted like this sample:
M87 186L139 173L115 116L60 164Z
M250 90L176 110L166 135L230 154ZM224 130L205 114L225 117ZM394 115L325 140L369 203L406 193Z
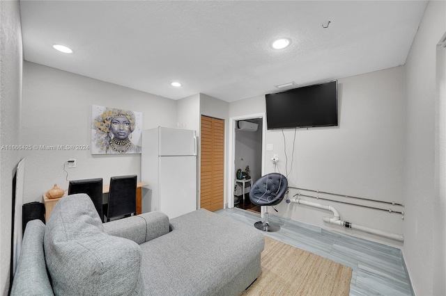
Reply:
M252 184L263 175L264 118L263 114L258 114L230 119L232 167L229 173L232 182L229 182L231 183L229 207L261 212L259 206L249 201L249 191Z

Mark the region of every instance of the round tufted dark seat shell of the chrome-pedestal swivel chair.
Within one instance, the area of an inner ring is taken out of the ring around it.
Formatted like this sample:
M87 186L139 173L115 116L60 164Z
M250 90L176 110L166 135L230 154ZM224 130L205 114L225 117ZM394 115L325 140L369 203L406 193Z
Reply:
M284 175L266 174L252 185L249 200L256 206L275 206L282 202L287 189L288 181Z

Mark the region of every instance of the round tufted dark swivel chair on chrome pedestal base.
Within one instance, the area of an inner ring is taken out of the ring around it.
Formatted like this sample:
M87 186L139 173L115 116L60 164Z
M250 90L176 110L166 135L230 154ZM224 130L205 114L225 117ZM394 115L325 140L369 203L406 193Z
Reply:
M249 191L249 200L256 206L265 207L265 220L255 222L254 227L261 231L278 231L279 225L271 224L268 220L268 206L275 206L282 202L286 191L288 190L288 181L286 177L279 173L270 173L261 176Z

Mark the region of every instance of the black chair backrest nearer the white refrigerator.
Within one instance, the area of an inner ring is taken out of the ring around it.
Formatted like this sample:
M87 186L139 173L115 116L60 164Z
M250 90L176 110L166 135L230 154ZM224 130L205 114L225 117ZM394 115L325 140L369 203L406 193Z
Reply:
M137 213L137 175L110 178L107 220Z

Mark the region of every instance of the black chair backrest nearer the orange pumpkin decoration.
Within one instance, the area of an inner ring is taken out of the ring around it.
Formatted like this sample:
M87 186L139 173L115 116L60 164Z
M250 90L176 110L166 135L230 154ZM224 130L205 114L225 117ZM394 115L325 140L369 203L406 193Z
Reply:
M86 193L91 198L102 221L102 178L71 180L68 183L68 195L76 193Z

